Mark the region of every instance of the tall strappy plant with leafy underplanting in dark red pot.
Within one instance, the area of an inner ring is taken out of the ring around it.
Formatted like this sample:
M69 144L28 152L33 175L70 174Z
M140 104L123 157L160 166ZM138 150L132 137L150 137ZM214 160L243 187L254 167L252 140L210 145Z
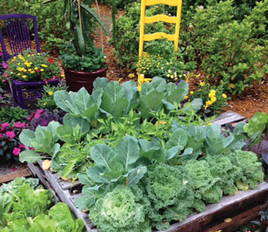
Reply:
M49 0L54 2L57 0ZM78 91L85 87L92 92L97 77L106 77L106 56L94 46L90 33L97 22L107 33L107 29L91 9L92 0L64 0L66 26L72 40L60 46L60 59L69 90Z

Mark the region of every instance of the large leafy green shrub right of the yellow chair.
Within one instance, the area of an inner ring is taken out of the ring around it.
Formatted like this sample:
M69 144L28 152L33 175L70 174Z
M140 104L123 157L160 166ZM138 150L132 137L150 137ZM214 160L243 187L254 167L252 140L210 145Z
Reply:
M264 37L268 1L257 3L240 21L233 20L238 10L232 1L198 7L187 15L181 34L184 59L198 62L207 79L231 93L241 93L268 71Z

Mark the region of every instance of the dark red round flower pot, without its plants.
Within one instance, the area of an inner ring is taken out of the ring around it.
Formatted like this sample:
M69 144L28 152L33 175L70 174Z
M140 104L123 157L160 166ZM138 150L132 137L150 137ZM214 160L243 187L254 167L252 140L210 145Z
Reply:
M106 77L107 68L97 70L95 72L72 71L64 68L66 84L68 90L77 92L80 88L85 87L91 94L93 90L93 82L97 77Z

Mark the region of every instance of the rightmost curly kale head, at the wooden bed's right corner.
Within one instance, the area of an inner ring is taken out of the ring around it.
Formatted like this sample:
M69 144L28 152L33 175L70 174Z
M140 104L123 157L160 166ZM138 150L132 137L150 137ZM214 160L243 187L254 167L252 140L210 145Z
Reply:
M235 150L228 153L227 156L231 160L233 166L240 168L241 174L236 185L238 189L246 190L245 184L249 188L254 189L257 187L258 182L263 182L264 173L261 170L261 163L258 162L256 154L253 152L246 152L241 150Z

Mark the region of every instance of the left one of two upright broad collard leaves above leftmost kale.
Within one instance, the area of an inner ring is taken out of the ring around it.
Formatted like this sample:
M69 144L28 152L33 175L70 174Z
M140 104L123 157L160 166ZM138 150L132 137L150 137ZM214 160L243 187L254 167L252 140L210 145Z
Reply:
M111 171L110 163L114 156L114 151L106 144L96 144L90 150L92 160L95 161L96 165L103 166Z

